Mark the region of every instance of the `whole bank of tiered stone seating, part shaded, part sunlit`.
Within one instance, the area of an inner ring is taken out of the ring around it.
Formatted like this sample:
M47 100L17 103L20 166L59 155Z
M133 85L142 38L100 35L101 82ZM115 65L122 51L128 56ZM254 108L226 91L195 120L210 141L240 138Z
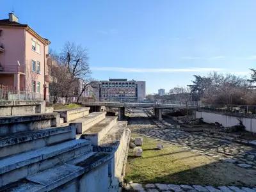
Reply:
M105 112L79 111L71 120L67 115L70 124L62 127L49 122L38 127L34 115L30 122L28 116L3 121L26 125L12 131L3 125L0 191L117 191L129 148L127 122Z

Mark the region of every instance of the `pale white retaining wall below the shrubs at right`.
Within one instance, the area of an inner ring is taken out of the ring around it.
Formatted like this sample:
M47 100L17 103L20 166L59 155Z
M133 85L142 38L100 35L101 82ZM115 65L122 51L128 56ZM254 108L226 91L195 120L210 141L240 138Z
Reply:
M246 131L256 132L256 118L244 118L200 111L196 111L196 118L204 118L204 122L209 124L218 122L222 124L224 127L231 127L239 124L239 119L243 122L244 126L246 127Z

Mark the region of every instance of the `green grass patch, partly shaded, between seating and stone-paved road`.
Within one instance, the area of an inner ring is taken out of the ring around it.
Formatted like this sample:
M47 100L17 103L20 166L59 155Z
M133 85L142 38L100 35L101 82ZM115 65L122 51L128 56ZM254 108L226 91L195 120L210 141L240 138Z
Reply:
M133 136L138 136L133 134ZM157 143L164 148L157 150ZM143 137L142 157L129 150L125 180L147 183L253 186L255 170L245 170L184 148ZM246 175L246 178L244 177Z

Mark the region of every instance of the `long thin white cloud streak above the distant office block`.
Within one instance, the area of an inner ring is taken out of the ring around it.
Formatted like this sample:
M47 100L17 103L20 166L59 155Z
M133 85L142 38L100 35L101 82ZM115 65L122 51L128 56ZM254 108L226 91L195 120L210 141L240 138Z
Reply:
M125 68L125 67L91 67L92 70L99 71L112 71L112 72L138 72L138 73L175 73L175 72L220 72L223 71L223 68L204 68L204 67L195 67L195 68Z

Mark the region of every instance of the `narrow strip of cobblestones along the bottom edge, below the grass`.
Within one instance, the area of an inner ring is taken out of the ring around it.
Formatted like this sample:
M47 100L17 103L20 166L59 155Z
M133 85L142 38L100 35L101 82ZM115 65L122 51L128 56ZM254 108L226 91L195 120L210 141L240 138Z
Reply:
M174 184L145 184L138 183L127 184L125 191L140 192L159 192L159 191L175 191L175 192L256 192L256 188L238 188L236 186L198 186L198 185L174 185Z

